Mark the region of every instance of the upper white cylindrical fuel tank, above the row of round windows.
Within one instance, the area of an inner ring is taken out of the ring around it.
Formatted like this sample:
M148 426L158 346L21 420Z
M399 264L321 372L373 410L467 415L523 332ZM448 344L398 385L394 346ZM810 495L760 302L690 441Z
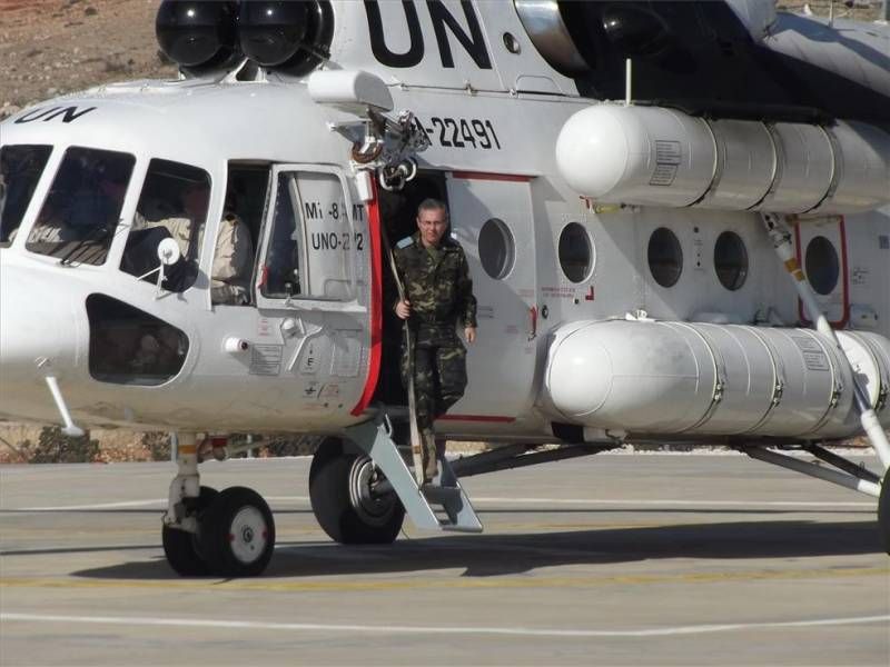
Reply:
M860 122L596 104L565 121L556 166L580 195L609 203L828 215L890 202L890 135Z

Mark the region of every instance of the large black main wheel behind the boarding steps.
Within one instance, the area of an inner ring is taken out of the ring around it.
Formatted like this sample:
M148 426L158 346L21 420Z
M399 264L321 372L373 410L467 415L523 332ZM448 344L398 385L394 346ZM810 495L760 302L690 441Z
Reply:
M340 442L326 440L309 468L309 499L315 518L328 536L344 545L388 545L405 520L402 501L389 491L370 492L380 475L362 454L343 450Z

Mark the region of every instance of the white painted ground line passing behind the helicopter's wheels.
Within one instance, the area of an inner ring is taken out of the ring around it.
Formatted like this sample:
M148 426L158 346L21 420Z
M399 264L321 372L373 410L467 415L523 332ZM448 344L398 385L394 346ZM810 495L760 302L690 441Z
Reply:
M278 502L309 502L308 496L267 496L269 501ZM491 502L504 505L605 505L605 506L682 506L682 507L749 507L754 510L758 507L867 507L876 508L877 501L856 501L856 500L688 500L681 498L511 498L496 496L478 496L473 498L473 502ZM149 505L166 505L166 498L150 498L144 500L121 500L116 502L96 502L91 505L58 505L38 507L3 507L0 511L71 511L79 509L117 509L127 507L141 507Z

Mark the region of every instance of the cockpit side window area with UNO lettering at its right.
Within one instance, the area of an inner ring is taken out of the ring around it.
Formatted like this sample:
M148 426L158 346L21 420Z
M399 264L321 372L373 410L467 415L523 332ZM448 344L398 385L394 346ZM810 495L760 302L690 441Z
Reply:
M346 300L352 296L354 233L340 180L333 173L281 171L269 211L260 293Z

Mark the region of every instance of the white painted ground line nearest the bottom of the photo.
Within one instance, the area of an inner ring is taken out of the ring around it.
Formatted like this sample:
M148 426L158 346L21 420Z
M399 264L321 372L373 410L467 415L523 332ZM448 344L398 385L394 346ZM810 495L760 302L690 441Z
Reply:
M690 625L662 628L640 628L629 630L597 629L546 629L534 627L485 627L485 626L412 626L412 625L364 625L364 624L323 624L323 623L275 623L263 620L225 620L206 618L158 618L152 616L61 616L51 614L14 614L0 613L0 621L6 623L65 623L118 626L161 626L194 627L211 629L253 629L284 630L294 633L310 631L353 631L378 635L494 635L524 637L612 637L643 638L675 635L703 635L709 633L728 633L744 630L770 630L790 628L813 628L825 626L867 625L890 621L890 615L854 616L841 618L815 618L807 620L726 623L711 625Z

